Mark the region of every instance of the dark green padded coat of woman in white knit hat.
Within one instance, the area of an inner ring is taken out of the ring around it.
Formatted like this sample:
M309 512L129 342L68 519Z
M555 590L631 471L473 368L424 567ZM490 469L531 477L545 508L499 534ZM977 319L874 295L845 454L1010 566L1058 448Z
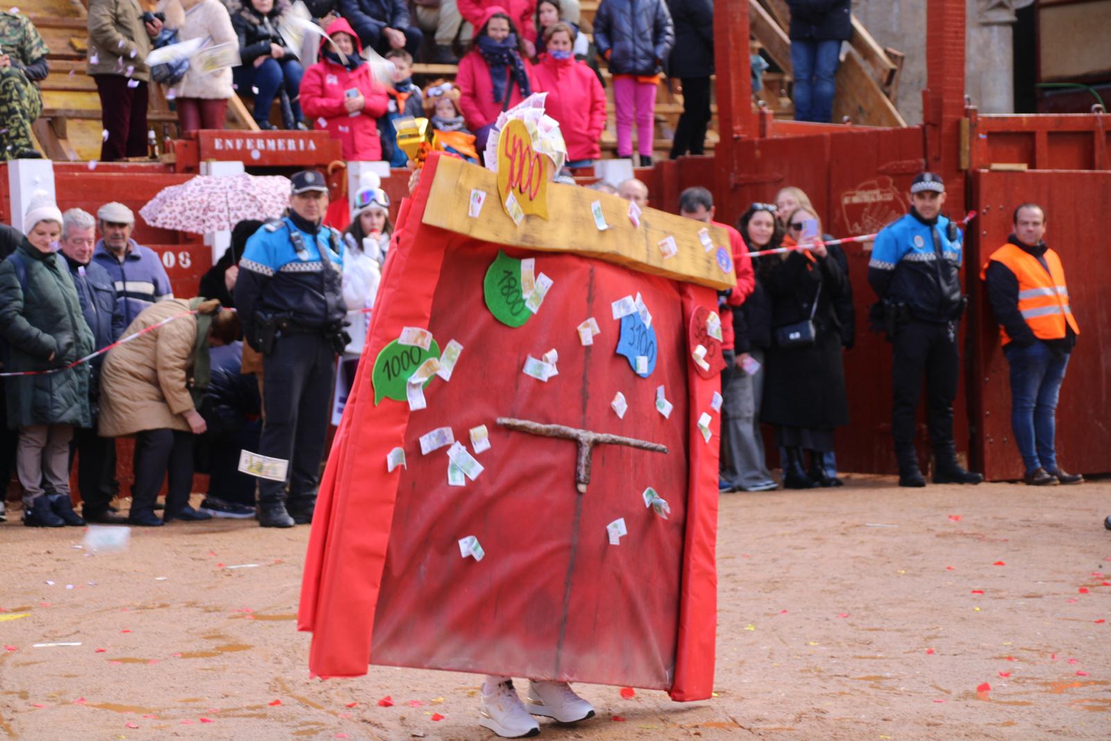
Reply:
M14 256L27 266L26 290ZM43 253L26 239L0 263L0 336L7 344L6 372L62 368L93 350L77 289L64 259ZM51 353L53 360L48 360ZM41 375L4 379L8 427L90 427L88 363Z

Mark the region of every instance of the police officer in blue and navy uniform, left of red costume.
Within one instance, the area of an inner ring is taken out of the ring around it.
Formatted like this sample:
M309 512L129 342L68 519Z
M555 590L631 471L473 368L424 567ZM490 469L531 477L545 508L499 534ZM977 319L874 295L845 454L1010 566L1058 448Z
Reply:
M343 242L322 224L328 187L312 170L298 172L292 183L288 216L247 240L234 290L243 334L263 357L258 452L289 461L288 487L259 479L263 528L312 521L336 353L350 341L343 331Z

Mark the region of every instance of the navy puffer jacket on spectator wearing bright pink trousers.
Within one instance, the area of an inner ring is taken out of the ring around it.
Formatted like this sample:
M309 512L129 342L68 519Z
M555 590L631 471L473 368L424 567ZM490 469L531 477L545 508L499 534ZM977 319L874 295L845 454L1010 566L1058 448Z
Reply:
M602 0L594 13L594 46L613 74L655 74L674 43L663 0Z

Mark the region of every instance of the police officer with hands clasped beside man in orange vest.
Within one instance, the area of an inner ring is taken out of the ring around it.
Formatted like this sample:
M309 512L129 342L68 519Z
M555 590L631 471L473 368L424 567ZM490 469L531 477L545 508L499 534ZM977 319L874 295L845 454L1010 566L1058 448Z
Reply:
M983 477L957 462L953 399L960 374L957 324L961 294L961 230L941 216L945 184L932 172L914 178L910 213L875 238L868 282L894 348L894 409L891 432L899 460L899 485L924 487L914 453L914 417L927 385L927 427L934 454L934 483L980 483Z

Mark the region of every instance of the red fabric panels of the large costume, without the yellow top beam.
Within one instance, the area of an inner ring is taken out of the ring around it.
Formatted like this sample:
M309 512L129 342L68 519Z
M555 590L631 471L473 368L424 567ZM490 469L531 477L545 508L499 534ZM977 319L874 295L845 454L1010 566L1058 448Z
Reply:
M354 677L368 662L663 689L701 700L713 687L717 575L718 431L707 443L697 419L710 409L717 377L693 372L685 328L714 308L710 288L672 281L573 253L532 252L426 226L439 153L401 204L390 258L343 421L328 459L306 559L299 628L312 631L309 665L322 677ZM477 167L461 164L459 167ZM491 193L487 209L499 208ZM551 208L551 207L550 207ZM483 216L486 216L483 213ZM551 219L560 213L553 209ZM565 214L564 214L565 218ZM554 286L523 327L498 322L483 303L483 277L500 250L533 257ZM442 279L442 280L441 280ZM613 352L620 321L610 303L641 292L652 311L659 354L649 378ZM601 334L579 342L575 324L594 317ZM442 348L463 346L450 382L433 378L428 408L374 402L379 351L403 327L428 328ZM547 383L521 372L527 354L559 350ZM670 419L654 407L663 384ZM629 411L610 409L617 390ZM621 445L593 449L585 493L574 487L575 444L509 431L497 417L634 437L661 454ZM444 450L421 455L418 438L450 425L486 424L486 470L448 487ZM408 467L387 472L394 447ZM653 487L671 505L645 509ZM623 517L629 534L607 541ZM476 535L482 561L463 559Z

